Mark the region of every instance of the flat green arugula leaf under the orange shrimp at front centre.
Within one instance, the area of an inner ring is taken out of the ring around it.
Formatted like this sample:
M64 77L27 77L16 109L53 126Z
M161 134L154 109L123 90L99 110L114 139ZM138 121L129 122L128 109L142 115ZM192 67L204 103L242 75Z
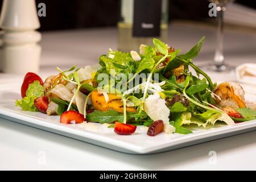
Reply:
M141 113L128 113L126 119L133 119L135 122L139 121L140 118L147 118L147 114L144 112ZM114 123L114 121L123 122L123 114L110 109L109 111L99 111L94 110L92 113L86 115L86 119L89 122L99 122L103 123Z

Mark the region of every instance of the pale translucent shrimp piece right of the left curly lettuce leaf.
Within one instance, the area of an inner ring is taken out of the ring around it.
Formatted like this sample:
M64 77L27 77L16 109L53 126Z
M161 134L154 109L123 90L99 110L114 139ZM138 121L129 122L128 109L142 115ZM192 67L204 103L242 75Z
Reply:
M58 84L54 86L51 90L46 92L46 96L48 98L60 98L61 100L70 102L73 97L73 93L67 88L67 86L63 84Z

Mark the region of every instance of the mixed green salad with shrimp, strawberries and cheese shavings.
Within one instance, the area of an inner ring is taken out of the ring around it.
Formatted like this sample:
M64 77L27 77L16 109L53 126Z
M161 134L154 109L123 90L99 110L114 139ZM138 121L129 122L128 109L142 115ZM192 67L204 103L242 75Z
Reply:
M204 37L187 53L153 39L139 51L109 49L98 65L72 68L46 78L27 73L16 106L26 111L60 115L64 125L96 122L120 135L147 127L161 132L190 134L188 125L234 125L256 119L236 82L213 82L195 64Z

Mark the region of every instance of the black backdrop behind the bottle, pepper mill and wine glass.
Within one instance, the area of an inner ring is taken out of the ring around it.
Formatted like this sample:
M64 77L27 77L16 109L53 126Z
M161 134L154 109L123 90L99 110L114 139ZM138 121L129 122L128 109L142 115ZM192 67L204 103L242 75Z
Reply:
M40 31L65 30L89 27L117 26L121 0L36 0L36 5L46 3L47 16L39 17ZM237 0L238 5L255 9L254 0ZM2 0L0 0L0 7ZM170 0L169 22L192 20L208 22L209 2L206 0ZM246 21L246 18L243 20ZM256 27L256 23L255 27Z

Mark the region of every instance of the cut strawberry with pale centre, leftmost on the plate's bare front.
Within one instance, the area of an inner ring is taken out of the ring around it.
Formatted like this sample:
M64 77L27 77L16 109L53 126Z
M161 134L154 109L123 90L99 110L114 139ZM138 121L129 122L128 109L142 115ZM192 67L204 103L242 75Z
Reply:
M82 123L86 121L84 118L84 115L80 114L78 111L75 110L69 110L65 111L60 115L60 122L63 124L71 124L72 121L75 121L76 123Z

